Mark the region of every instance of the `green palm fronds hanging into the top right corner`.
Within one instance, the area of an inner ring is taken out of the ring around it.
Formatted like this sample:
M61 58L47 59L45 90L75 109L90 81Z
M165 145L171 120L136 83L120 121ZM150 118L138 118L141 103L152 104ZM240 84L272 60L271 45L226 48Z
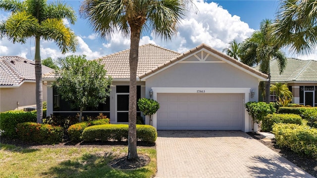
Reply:
M273 32L291 51L312 52L317 45L317 0L283 0Z

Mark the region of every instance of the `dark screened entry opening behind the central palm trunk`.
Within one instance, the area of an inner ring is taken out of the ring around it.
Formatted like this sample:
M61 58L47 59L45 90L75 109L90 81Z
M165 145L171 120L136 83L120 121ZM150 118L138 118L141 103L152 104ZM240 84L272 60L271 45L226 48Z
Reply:
M117 122L129 122L129 86L116 86ZM137 101L141 98L141 86L137 86ZM137 116L141 111L137 107Z

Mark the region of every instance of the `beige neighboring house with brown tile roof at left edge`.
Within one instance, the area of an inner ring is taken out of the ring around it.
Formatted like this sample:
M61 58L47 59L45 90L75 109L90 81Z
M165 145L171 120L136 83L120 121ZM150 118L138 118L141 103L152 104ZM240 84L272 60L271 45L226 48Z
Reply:
M54 70L42 66L43 73ZM47 100L43 85L43 101ZM36 106L34 62L19 56L0 57L0 112Z

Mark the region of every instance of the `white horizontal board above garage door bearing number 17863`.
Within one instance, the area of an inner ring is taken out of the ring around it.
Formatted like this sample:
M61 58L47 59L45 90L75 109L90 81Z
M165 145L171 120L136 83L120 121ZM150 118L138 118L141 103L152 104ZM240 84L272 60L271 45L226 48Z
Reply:
M152 87L155 93L250 93L251 88L172 88Z

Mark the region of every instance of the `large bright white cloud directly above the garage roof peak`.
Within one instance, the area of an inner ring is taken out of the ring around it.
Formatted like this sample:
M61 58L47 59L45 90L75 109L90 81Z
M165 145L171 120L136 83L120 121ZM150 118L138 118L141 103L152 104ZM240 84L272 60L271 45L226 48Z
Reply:
M222 51L231 41L240 43L254 32L240 17L232 16L214 2L195 1L195 4L199 11L190 9L172 43L162 44L155 40L157 44L184 52L204 43Z

